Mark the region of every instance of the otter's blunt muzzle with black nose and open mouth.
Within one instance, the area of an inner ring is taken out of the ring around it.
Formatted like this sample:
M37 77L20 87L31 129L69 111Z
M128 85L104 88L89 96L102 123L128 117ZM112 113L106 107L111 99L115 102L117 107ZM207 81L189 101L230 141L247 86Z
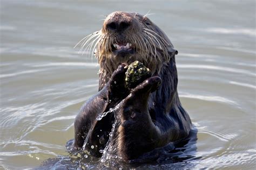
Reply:
M102 28L106 41L109 41L108 45L110 45L105 46L106 54L109 53L109 56L113 55L116 58L125 58L138 52L136 40L139 41L140 37L131 32L136 32L137 35L142 34L143 26L142 17L136 19L134 16L136 13L125 12L113 12L107 16Z

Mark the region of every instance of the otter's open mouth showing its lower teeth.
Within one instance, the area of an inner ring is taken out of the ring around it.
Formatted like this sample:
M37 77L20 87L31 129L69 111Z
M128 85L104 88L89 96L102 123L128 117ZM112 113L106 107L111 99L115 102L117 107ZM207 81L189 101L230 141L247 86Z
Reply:
M134 48L133 48L133 45L130 42L114 43L112 45L112 52L115 55L124 56L126 54L133 54L134 53Z

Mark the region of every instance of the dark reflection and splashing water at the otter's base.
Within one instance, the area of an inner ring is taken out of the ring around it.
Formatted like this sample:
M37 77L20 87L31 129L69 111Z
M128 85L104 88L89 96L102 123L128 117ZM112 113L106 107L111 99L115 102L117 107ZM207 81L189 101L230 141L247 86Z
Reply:
M110 140L114 134L115 125L113 124L110 133ZM89 131L90 134L90 131ZM158 148L154 151L142 155L140 158L132 160L129 164L118 159L117 155L110 154L112 145L110 142L106 144L102 158L95 158L90 154L90 151L72 151L73 140L68 141L66 148L70 152L69 157L59 157L48 159L43 162L38 169L48 168L194 168L194 161L200 159L197 157L197 129L193 128L190 135L179 143L171 143L163 148ZM87 142L85 142L85 145ZM93 149L93 145L89 146Z

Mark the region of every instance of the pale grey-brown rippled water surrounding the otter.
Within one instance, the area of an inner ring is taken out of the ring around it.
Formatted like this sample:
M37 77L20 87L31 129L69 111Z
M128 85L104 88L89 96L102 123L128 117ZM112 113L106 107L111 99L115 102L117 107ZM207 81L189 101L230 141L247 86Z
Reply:
M116 10L155 13L179 51L179 95L198 129L187 151L197 159L140 167L255 168L255 1L227 0L1 1L0 168L69 158L65 144L99 68L73 46Z

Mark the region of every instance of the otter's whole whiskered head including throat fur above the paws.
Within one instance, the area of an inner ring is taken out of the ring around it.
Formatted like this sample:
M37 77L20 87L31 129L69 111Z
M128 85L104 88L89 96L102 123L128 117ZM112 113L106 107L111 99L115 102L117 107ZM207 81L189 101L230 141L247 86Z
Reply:
M177 53L165 33L149 18L120 11L107 16L102 29L85 38L82 47L86 44L90 49L95 44L100 65L99 89L109 81L120 63L138 60L152 75L158 75L161 67L170 61L170 53Z

